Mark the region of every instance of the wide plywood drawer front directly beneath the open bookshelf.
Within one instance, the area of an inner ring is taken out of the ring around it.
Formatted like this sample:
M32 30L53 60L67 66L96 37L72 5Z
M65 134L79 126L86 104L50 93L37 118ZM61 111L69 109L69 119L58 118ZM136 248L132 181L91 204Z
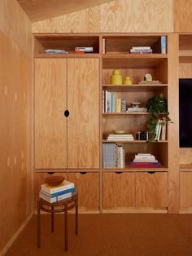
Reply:
M103 173L104 212L166 212L167 209L167 173Z

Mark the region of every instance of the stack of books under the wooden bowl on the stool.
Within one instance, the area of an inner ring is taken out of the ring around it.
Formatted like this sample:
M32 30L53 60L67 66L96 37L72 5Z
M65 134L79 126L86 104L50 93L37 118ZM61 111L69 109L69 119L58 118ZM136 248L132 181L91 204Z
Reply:
M73 196L76 192L74 183L64 180L63 183L58 186L50 186L48 184L41 184L39 191L39 197L48 201L49 203L55 203Z

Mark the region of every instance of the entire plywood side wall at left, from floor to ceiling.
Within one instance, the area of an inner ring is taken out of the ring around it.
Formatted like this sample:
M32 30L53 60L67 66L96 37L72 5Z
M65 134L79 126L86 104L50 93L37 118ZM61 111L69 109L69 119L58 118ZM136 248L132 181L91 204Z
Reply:
M33 174L31 25L15 1L0 2L0 17L1 252L33 213Z

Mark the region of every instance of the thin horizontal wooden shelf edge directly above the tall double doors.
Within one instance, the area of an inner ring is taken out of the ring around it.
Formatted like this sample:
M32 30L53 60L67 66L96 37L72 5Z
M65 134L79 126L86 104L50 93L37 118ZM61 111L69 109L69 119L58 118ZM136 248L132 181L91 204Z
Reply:
M75 52L73 53L68 53L68 54L46 54L46 53L41 53L41 54L36 54L34 57L37 58L46 58L46 59L66 59L66 58L99 58L100 55L97 53L85 53L85 54L76 54Z

